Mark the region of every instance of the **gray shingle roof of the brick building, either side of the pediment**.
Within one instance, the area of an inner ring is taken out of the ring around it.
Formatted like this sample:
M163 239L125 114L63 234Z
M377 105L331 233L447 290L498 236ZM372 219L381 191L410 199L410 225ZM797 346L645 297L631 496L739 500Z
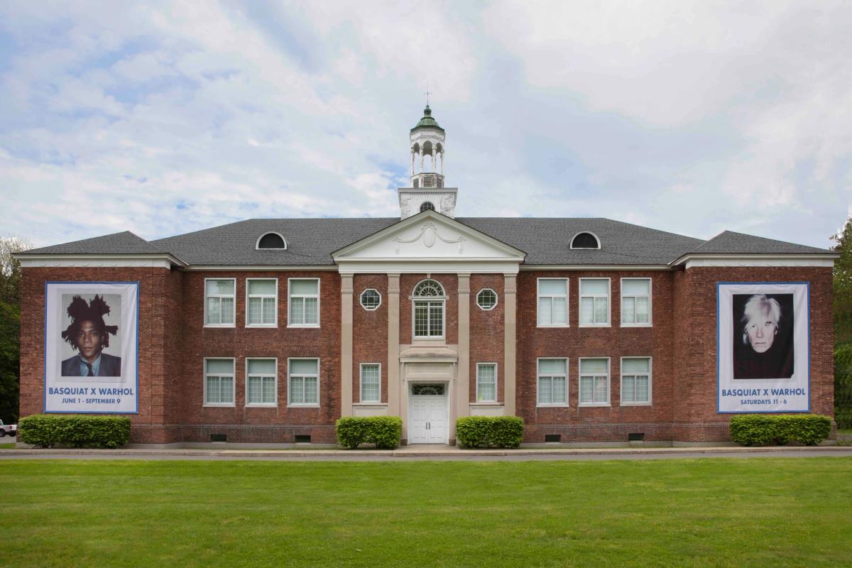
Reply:
M830 251L739 232L709 241L609 219L458 217L456 221L527 253L527 265L668 264L687 253L826 254ZM27 251L32 254L170 253L190 265L327 266L331 253L398 223L398 218L250 219L150 243L129 231ZM257 238L275 231L287 250L255 250ZM601 250L571 250L578 232L593 232Z

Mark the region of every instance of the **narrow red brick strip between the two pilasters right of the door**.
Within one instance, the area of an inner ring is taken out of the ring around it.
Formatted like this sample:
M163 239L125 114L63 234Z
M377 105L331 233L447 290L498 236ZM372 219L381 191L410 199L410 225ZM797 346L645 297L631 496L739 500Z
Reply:
M470 275L470 402L476 402L476 364L497 363L497 400L504 402L504 277L503 274ZM483 288L497 292L490 311L476 305Z

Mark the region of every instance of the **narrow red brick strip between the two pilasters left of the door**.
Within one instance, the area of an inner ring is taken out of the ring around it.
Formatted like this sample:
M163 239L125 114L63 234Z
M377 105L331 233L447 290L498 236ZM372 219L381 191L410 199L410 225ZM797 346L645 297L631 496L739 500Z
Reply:
M386 274L356 274L354 276L354 306L352 308L352 400L360 402L360 364L382 364L382 402L388 402L388 276ZM361 292L378 290L382 305L374 312L361 307Z

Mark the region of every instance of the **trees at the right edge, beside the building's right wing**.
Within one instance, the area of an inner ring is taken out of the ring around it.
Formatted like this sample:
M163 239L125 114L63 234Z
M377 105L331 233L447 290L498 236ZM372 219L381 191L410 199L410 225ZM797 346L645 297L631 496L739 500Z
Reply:
M832 247L834 261L834 416L838 427L852 427L852 216Z

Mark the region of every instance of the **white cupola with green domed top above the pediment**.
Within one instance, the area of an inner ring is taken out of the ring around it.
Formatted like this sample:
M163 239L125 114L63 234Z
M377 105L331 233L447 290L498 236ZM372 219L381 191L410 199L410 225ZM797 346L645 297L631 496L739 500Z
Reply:
M444 186L446 132L432 118L432 109L428 103L423 109L423 118L411 129L410 141L412 186L397 190L400 196L400 218L417 215L426 209L454 217L458 189Z

